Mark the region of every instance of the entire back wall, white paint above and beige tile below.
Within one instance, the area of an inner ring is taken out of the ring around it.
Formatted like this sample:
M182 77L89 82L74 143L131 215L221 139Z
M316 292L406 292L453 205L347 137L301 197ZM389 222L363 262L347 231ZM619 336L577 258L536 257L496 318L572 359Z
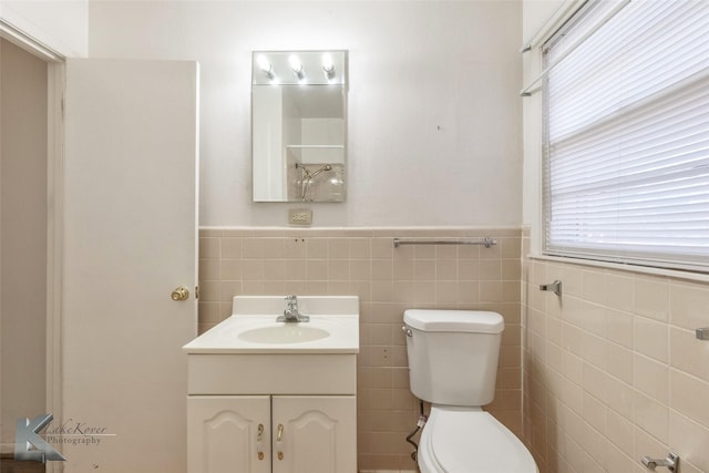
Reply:
M359 467L413 470L403 310L499 310L490 410L522 433L520 2L100 1L90 24L90 56L201 63L202 330L238 294L359 295ZM301 205L251 203L250 53L328 48L349 51L347 202L277 228ZM392 249L481 233L502 244Z

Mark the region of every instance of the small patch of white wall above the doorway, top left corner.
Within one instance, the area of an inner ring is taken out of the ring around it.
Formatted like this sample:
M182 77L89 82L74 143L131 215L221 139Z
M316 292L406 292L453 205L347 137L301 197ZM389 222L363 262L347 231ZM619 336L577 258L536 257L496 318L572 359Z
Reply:
M2 0L0 19L64 56L88 53L89 0Z

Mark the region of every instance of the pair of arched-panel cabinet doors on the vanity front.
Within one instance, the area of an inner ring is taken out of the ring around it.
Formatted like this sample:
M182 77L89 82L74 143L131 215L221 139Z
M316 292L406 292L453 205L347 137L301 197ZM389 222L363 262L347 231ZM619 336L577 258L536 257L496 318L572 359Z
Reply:
M354 395L191 395L189 472L354 472L356 404Z

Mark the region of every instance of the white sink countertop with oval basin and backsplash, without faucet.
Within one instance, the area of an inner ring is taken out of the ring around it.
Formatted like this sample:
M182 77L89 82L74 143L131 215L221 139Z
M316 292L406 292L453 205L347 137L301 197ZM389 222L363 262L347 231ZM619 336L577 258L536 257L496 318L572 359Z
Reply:
M358 353L359 298L300 296L307 322L277 322L282 296L236 296L232 317L183 347L187 353Z

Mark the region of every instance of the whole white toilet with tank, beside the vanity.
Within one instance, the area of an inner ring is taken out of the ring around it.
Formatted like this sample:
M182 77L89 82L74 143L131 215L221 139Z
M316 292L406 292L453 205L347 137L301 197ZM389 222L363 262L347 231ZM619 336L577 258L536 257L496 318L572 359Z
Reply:
M538 473L522 441L482 410L495 395L502 316L409 309L403 321L411 392L431 403L421 473Z

